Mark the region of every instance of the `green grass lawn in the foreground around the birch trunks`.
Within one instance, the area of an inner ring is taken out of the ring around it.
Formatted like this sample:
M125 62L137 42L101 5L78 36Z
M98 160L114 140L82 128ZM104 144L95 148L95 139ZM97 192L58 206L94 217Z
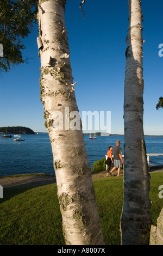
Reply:
M106 245L120 245L123 176L93 179ZM163 173L151 174L151 218L154 225L163 207L159 186ZM0 245L65 245L57 185L4 188L0 199Z

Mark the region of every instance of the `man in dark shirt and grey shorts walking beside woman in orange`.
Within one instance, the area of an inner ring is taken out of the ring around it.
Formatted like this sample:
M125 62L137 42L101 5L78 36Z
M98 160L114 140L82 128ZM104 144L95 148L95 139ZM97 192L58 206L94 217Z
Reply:
M109 174L111 174L116 168L118 168L117 176L120 176L121 165L123 163L122 150L120 148L120 144L121 144L121 142L117 141L116 146L113 148L113 151L114 151L114 167L109 172Z

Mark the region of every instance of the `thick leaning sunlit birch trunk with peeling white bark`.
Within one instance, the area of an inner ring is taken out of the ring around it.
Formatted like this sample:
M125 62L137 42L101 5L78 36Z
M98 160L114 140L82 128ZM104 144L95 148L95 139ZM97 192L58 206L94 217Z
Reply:
M78 112L78 107L72 86L65 4L66 0L39 0L41 101L52 145L66 245L104 245L83 132L71 130L68 125L68 121L73 122L70 113ZM55 120L58 130L52 126Z

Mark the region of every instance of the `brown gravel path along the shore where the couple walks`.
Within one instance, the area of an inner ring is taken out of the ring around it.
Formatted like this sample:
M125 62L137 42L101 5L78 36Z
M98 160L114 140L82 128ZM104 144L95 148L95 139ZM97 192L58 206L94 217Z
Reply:
M163 166L152 166L148 169L149 173L152 172L163 172ZM123 175L123 170L121 170L120 175ZM113 176L117 176L117 172L113 172ZM106 177L106 171L92 174L92 179L97 178L106 178L109 179L110 177ZM56 179L54 175L46 175L46 174L31 174L26 175L22 174L20 176L7 176L0 178L0 185L3 188L7 187L18 187L18 186L35 186L35 185L47 185L56 183Z

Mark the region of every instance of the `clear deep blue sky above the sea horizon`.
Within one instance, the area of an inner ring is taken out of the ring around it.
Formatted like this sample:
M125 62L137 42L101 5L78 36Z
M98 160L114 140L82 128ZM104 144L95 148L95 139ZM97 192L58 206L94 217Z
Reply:
M111 111L111 133L123 134L123 89L126 65L128 3L126 0L80 0L66 4L66 28L79 112ZM163 109L156 111L163 96L163 57L159 57L162 36L163 2L142 0L143 77L145 135L163 135ZM45 132L43 105L40 101L40 58L36 38L38 27L24 40L21 64L0 76L0 126L26 126Z

